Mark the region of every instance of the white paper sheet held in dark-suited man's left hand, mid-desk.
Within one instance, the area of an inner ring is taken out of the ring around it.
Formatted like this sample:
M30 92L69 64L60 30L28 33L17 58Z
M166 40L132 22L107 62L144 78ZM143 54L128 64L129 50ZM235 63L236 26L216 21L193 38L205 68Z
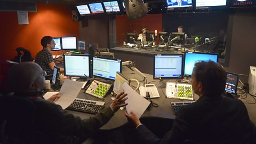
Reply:
M128 105L125 107L128 114L133 111L140 118L144 111L147 109L150 102L141 97L127 83L123 83L122 88L124 93L127 93L128 99L125 101L125 103L128 103Z

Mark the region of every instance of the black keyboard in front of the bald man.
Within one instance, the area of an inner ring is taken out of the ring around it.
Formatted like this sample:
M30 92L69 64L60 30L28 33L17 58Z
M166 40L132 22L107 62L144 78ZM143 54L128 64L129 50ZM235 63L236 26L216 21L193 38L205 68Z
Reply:
M97 114L103 108L105 102L78 99L76 98L67 109L80 111L83 113Z

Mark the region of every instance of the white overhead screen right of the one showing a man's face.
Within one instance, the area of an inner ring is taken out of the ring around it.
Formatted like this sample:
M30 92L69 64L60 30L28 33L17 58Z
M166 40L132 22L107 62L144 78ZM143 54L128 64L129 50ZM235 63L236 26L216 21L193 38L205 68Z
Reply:
M196 7L226 6L227 0L196 0Z

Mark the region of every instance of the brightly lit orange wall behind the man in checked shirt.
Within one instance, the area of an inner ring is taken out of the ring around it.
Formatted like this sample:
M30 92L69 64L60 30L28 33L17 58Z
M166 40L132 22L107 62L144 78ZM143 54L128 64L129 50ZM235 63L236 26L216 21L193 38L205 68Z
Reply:
M29 25L18 25L17 12L0 11L0 60L13 59L17 55L17 47L25 47L35 58L36 53L42 50L41 38L46 35L78 37L78 22L71 18L72 8L69 5L37 3L37 12L28 12Z

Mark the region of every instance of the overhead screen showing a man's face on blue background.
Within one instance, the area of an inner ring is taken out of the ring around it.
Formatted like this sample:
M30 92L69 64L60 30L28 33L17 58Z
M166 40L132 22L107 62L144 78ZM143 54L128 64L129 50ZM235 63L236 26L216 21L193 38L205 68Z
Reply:
M167 9L193 7L192 0L166 0Z

